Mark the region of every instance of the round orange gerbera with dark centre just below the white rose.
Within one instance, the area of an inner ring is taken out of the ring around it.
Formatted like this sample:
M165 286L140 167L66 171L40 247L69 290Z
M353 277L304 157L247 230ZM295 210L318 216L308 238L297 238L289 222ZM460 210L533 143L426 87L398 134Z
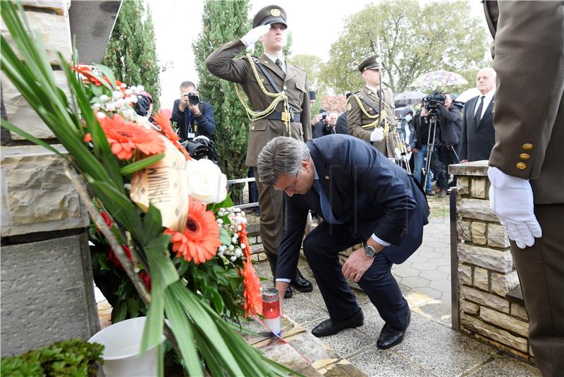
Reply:
M219 227L214 213L207 211L204 204L190 198L188 208L190 210L184 232L171 229L166 229L165 232L172 235L172 249L176 251L178 258L183 256L188 262L204 263L212 259L221 246Z

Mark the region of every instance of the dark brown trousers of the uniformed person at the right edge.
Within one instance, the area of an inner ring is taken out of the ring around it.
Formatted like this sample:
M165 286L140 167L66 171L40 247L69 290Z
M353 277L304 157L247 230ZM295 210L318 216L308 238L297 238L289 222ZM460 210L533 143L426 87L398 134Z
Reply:
M544 377L564 373L564 204L535 205L542 237L519 249L513 261L529 315L529 342Z

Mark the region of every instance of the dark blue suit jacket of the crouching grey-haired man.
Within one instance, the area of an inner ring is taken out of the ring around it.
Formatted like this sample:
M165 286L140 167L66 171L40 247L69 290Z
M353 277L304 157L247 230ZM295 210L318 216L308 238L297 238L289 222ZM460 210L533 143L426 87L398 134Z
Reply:
M415 178L353 136L334 134L312 139L307 147L333 213L350 227L351 239L365 241L376 234L391 244L382 252L396 264L417 250L429 206ZM307 211L323 213L313 188L304 195L285 198L286 222L278 248L277 278L291 278L295 272Z

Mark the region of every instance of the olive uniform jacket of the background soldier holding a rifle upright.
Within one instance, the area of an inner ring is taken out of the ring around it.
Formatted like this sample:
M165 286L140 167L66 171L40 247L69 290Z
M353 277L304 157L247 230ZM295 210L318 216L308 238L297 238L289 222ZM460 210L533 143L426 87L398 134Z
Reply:
M395 114L393 112L393 95L391 90L388 88L383 88L382 92L384 92L384 103L391 108L386 110L386 119L390 124L390 132L388 133L387 137L384 137L384 140L376 141L372 143L377 150L384 153L386 157L394 157L393 150L396 147L396 140L393 136L393 129L396 128L396 121L395 121ZM356 100L358 98L359 101ZM351 136L355 136L357 138L361 138L370 143L370 134L374 131L374 127L370 128L362 128L365 124L371 124L372 122L376 121L374 118L369 118L359 106L364 107L364 110L369 115L376 115L379 111L379 102L380 98L378 94L372 92L367 87L362 88L359 92L348 97L347 101L347 119L348 119L348 133ZM368 104L367 104L368 102ZM382 104L382 111L386 109L386 106ZM382 124L384 124L384 119L382 119Z

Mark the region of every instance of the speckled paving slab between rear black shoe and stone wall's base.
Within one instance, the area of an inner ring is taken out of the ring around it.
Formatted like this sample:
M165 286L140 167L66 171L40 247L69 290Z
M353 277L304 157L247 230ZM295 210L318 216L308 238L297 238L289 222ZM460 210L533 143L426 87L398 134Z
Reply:
M495 352L493 348L418 313L412 313L405 340L393 350L436 376L448 377L471 371Z

